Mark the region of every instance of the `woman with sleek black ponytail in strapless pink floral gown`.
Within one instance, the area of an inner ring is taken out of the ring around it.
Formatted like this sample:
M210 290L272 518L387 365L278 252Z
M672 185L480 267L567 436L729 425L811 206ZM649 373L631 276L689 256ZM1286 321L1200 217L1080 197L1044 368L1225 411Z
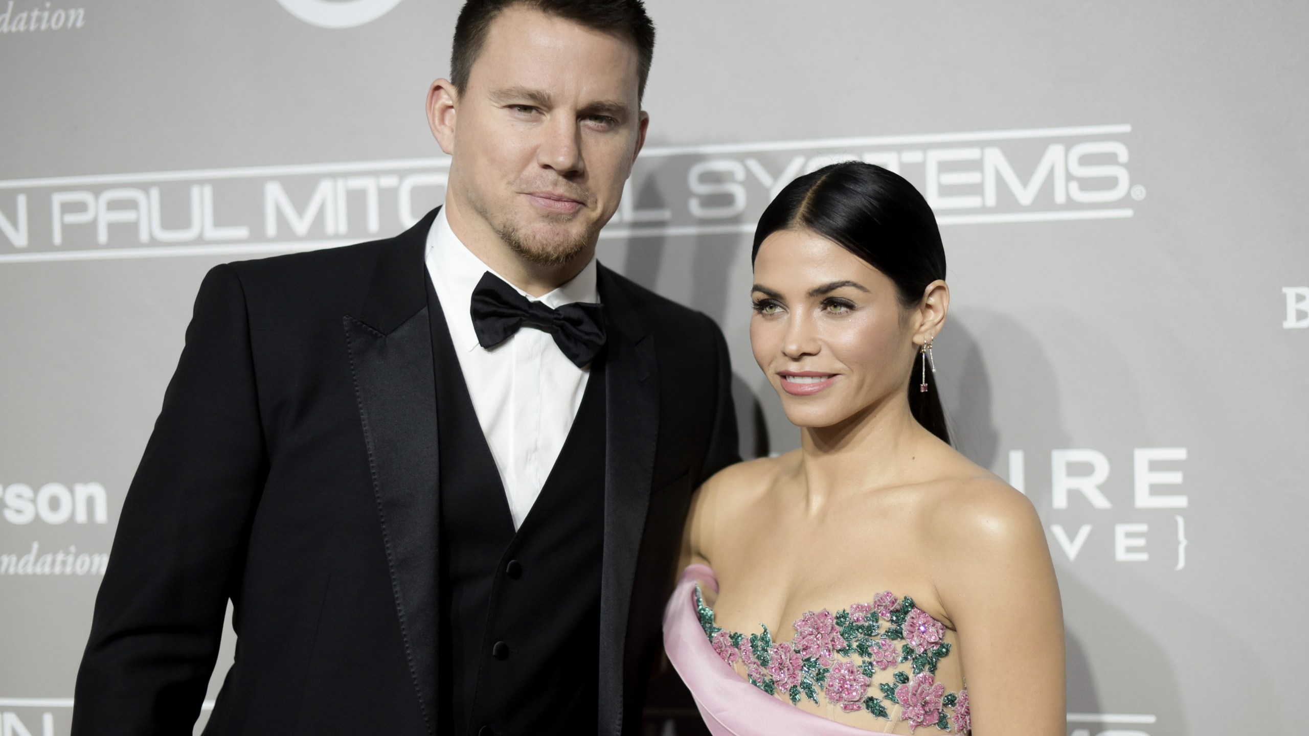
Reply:
M1041 523L949 444L944 279L932 210L880 166L800 177L759 220L750 343L801 447L700 488L664 622L716 736L1063 733Z

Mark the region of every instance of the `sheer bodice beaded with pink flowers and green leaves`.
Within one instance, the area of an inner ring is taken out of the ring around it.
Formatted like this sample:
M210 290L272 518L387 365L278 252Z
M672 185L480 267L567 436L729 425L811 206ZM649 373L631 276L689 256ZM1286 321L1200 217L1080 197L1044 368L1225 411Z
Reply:
M791 642L774 640L767 626L750 635L716 626L699 585L695 608L723 661L770 695L816 706L821 697L830 708L886 722L885 731L967 733L971 727L967 689L948 691L936 680L952 633L908 596L881 592L835 614L805 613L792 623Z

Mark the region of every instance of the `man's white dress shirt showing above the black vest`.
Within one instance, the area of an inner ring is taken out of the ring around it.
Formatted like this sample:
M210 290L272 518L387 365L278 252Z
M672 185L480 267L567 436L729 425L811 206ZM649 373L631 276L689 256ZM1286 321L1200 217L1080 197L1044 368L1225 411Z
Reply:
M590 368L577 368L550 333L524 325L491 348L473 331L473 289L495 271L473 254L450 229L442 207L427 233L427 272L441 300L463 381L473 397L482 433L491 445L513 528L531 511L572 428ZM500 274L496 274L500 276ZM503 276L501 276L503 278ZM505 279L505 283L509 283ZM513 284L509 284L513 285ZM598 303L596 259L555 291L529 300L559 308L575 301Z

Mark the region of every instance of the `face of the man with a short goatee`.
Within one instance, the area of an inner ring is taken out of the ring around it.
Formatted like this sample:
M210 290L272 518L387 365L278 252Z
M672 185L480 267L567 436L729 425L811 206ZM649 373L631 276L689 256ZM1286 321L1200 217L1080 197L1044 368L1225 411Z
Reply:
M560 265L586 251L645 138L637 81L631 42L538 10L503 12L441 140L449 194L522 258Z

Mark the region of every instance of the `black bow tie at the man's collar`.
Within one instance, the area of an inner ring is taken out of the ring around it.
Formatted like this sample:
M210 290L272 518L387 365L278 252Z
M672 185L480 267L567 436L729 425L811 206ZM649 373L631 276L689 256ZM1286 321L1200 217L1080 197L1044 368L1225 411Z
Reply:
M471 312L473 331L482 347L503 343L526 323L550 333L568 360L585 368L605 344L601 305L573 303L551 309L522 296L491 271L473 289Z

